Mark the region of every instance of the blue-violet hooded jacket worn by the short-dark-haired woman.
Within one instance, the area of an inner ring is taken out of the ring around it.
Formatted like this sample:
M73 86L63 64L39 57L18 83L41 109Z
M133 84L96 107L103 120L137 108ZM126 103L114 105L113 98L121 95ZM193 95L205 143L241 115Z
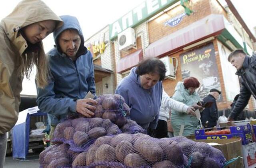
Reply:
M150 90L145 90L140 85L136 68L132 68L116 88L116 94L124 97L130 107L130 118L144 129L156 129L159 110L162 101L162 82L157 82Z

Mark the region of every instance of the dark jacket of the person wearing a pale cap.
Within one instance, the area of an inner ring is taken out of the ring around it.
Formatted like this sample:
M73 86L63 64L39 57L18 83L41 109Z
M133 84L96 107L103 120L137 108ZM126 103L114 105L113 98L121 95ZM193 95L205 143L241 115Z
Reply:
M216 104L216 100L212 95L208 95L203 99L204 102L213 102L211 107L205 108L201 113L201 121L202 125L205 126L206 121L208 121L208 125L206 128L212 128L216 126L218 120L218 107Z

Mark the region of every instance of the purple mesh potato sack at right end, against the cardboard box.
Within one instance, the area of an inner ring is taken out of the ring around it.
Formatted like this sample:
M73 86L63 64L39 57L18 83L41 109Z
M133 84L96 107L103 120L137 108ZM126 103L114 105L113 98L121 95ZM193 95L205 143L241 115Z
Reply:
M173 137L182 152L191 159L190 168L222 168L226 163L223 153L207 143L194 142L185 137Z

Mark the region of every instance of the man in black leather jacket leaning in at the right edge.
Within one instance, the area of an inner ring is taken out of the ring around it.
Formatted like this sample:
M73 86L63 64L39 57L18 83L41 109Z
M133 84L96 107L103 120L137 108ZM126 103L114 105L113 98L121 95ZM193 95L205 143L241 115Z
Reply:
M241 82L239 98L228 117L228 121L234 121L248 104L250 96L256 98L256 55L250 57L242 49L237 49L230 53L228 61L237 69Z

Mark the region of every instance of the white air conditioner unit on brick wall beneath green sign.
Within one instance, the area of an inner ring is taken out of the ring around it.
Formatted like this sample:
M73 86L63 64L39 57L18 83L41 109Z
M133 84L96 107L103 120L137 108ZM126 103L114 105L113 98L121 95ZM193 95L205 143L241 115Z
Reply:
M135 31L132 27L125 29L117 35L118 38L118 49L128 50L131 47L136 46Z

